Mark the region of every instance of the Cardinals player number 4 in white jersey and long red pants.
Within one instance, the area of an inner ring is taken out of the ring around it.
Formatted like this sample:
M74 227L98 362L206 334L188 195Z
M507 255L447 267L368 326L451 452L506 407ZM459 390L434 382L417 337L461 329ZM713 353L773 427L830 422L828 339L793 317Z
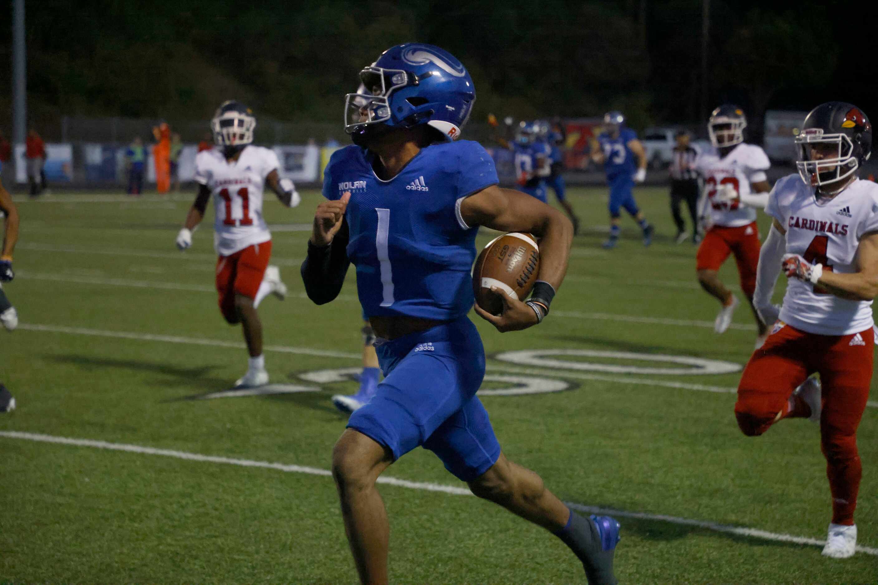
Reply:
M856 432L872 382L878 185L857 177L872 151L872 125L850 103L824 103L795 142L799 175L778 181L769 196L774 225L754 297L766 323L776 323L744 370L735 416L748 436L785 417L820 422L832 498L823 553L841 559L856 550ZM780 309L771 303L778 268L789 279ZM815 373L820 382L809 378Z

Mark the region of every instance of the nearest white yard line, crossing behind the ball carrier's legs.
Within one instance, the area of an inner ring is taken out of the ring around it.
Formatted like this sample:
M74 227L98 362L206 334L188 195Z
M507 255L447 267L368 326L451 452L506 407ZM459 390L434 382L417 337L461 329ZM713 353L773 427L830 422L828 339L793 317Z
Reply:
M200 463L214 463L220 465L234 465L238 467L257 467L263 469L273 469L284 473L320 475L328 477L332 475L328 469L320 467L306 467L301 465L290 465L285 463L272 463L270 461L257 461L248 459L236 459L232 457L219 457L215 455L203 455L200 453L188 453L185 451L175 451L170 449L156 449L155 447L130 445L126 443L109 443L106 441L97 441L91 439L71 439L68 437L55 437L53 435L44 435L33 432L17 432L17 431L0 431L0 437L6 439L29 440L40 443L54 443L58 445L91 447L94 449L104 449L107 451L122 451L126 453L138 453L142 455L156 455L160 457L169 457L172 459L197 461ZM441 492L453 496L470 496L469 489L464 489L452 485L444 485L432 482L410 482L395 477L382 475L378 478L378 483L392 485L399 488L418 489L421 491ZM599 508L595 506L586 506L580 503L568 502L574 510L586 512L587 514L606 514L615 517L636 518L638 520L652 520L658 522L666 522L669 524L681 524L684 526L693 526L704 530L725 532L728 534L736 534L752 539L773 540L775 542L791 542L798 545L823 546L826 544L824 540L810 539L803 536L794 536L792 534L783 534L778 532L770 532L759 530L757 528L746 528L743 526L730 526L728 524L717 524L705 520L694 520L692 518L667 516L666 514L652 514L650 512L630 512L626 510L613 510L609 508ZM857 546L857 552L878 556L878 548L871 546Z

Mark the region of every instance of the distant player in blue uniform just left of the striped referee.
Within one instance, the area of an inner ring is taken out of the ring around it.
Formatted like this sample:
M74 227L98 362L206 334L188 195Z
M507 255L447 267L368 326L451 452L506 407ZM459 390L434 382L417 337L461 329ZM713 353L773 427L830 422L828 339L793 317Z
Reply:
M652 226L634 200L634 183L646 180L646 151L634 132L625 125L621 112L604 115L604 132L592 143L592 160L603 163L609 183L609 239L603 247L615 247L619 239L620 210L628 211L644 232L644 246L652 243Z

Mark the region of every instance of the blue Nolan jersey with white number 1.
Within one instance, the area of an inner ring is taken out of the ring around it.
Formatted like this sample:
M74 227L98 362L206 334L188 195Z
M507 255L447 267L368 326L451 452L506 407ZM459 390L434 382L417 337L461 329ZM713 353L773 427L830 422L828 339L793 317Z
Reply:
M478 229L465 224L460 203L499 182L491 155L470 140L430 145L389 181L372 161L347 146L323 178L327 199L350 192L347 251L365 316L463 317L473 303Z

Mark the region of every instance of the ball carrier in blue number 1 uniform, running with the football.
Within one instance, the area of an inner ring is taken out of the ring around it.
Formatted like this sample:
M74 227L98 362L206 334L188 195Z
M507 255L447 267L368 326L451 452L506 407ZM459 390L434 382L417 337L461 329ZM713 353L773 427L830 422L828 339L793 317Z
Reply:
M591 583L614 583L619 524L581 517L507 460L476 396L485 350L466 317L479 225L540 238L539 281L526 302L501 295L500 332L537 325L564 278L570 222L522 193L500 189L493 160L477 142L455 141L476 93L469 73L436 46L385 51L349 94L346 131L354 141L325 171L302 278L328 303L350 263L360 303L377 336L385 380L351 415L333 449L332 473L356 569L363 583L387 582L390 527L378 476L417 446L435 453L472 493L552 531L586 568ZM497 289L500 292L500 289Z

